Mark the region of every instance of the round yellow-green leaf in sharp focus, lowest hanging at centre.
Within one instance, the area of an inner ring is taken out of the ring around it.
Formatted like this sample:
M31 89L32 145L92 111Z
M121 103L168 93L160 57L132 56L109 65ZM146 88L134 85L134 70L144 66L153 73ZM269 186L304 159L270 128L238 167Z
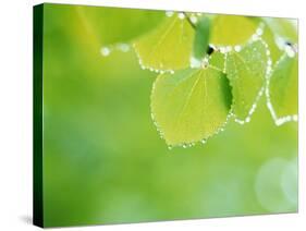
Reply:
M232 95L225 74L211 68L160 74L152 87L152 118L170 146L193 145L227 122Z

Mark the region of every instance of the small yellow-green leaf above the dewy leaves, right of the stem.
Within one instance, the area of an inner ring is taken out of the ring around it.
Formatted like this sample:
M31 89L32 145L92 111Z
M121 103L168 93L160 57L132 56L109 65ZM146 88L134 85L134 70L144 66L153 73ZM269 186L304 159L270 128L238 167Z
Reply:
M218 15L213 19L210 42L233 46L246 42L255 34L258 23L246 16Z

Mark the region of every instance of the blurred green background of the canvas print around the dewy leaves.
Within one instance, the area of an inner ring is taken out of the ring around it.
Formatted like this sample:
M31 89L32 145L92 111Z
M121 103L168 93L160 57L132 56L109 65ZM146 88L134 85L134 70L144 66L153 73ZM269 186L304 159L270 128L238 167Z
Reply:
M297 123L274 125L262 97L250 123L168 149L151 121L156 73L128 42L161 11L45 4L46 227L297 210Z

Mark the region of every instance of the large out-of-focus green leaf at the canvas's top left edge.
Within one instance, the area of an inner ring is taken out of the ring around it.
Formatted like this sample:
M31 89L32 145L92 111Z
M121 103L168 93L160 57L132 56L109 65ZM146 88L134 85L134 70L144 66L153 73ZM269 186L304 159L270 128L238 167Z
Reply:
M96 37L101 45L130 42L155 28L166 17L162 11L73 5L82 32Z

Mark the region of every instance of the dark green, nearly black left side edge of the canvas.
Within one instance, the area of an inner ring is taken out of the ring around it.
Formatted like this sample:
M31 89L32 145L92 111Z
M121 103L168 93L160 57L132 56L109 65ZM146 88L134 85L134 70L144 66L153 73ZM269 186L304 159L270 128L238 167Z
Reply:
M44 227L42 204L42 35L44 35L44 4L34 7L34 80L33 80L33 222Z

